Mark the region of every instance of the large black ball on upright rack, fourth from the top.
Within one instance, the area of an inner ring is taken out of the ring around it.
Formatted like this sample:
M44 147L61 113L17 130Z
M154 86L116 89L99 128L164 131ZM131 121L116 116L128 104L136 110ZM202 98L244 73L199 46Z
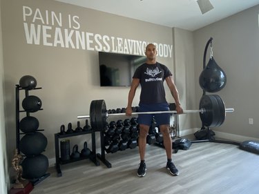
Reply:
M20 140L20 151L26 156L39 155L45 151L48 139L40 132L27 133Z

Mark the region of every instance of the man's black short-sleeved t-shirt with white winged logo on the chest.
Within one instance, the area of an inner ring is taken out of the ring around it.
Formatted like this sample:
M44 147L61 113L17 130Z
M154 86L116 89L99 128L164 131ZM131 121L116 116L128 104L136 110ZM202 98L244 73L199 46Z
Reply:
M164 79L171 75L169 68L160 63L139 66L133 78L140 79L140 104L166 103Z

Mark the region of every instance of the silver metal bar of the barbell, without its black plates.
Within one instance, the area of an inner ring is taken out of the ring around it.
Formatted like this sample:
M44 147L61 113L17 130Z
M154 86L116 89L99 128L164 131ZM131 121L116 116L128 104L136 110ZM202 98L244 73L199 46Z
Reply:
M204 113L204 108L200 109L200 110L184 110L183 114L186 113ZM233 113L234 112L234 108L225 108L226 113ZM131 115L143 115L143 114L163 114L163 113L171 113L171 114L177 114L176 110L168 110L168 111L153 111L153 112L133 112ZM125 116L126 113L111 113L108 114L106 113L106 117L109 116ZM87 119L90 118L90 115L81 115L81 116L77 116L77 119Z

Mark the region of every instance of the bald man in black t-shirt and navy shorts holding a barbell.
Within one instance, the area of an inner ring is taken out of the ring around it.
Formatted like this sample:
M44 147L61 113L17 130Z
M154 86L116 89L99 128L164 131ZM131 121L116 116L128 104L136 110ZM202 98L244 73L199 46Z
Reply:
M172 74L166 66L157 63L155 57L157 49L153 43L146 46L146 63L142 64L135 70L131 89L128 93L128 105L126 115L131 116L132 102L135 97L135 91L139 84L141 85L140 93L140 112L148 111L164 111L169 110L169 104L166 101L164 80L175 99L176 111L178 114L183 113L180 106L178 90L174 84ZM172 140L169 134L170 114L146 114L138 116L138 124L140 125L140 134L138 138L138 146L140 152L140 166L137 170L139 177L146 175L145 152L146 152L146 136L151 126L152 118L155 117L155 122L159 125L160 132L163 135L164 147L166 150L167 163L166 168L169 169L172 175L179 175L178 169L172 162Z

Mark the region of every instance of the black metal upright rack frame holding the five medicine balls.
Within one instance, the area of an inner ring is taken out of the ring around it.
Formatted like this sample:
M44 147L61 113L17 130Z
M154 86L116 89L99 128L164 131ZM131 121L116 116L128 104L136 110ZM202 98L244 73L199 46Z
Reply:
M26 113L26 116L30 116L30 113L27 112L26 110L20 110L20 90L24 90L25 91L25 96L28 97L29 95L29 91L26 89L23 89L19 86L19 84L15 85L15 101L16 101L16 148L18 153L20 154L20 139L21 139L21 135L25 135L25 133L21 133L20 132L20 115L19 113ZM33 90L39 90L42 88L34 88ZM43 110L43 108L40 108L39 110ZM37 129L37 131L43 131L44 129ZM24 157L24 155L22 155ZM39 177L37 180L33 180L31 181L33 185L39 184L39 182L42 182L43 180L45 180L48 176L50 176L50 173L46 173L45 175L43 175L42 177Z

